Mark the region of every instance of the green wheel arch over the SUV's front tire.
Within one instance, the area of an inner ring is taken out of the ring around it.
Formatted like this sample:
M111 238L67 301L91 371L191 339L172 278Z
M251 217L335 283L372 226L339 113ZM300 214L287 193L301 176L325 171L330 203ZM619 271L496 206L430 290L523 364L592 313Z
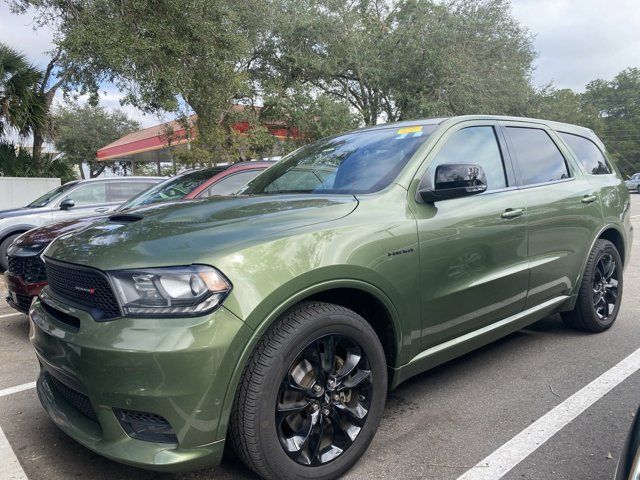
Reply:
M385 351L389 368L389 385L392 385L394 368L399 358L402 345L398 313L391 300L377 287L369 283L354 280L333 280L301 290L296 295L283 301L269 313L259 327L254 330L251 340L242 351L237 365L231 375L224 397L222 415L218 425L217 438L225 438L229 426L229 418L236 391L242 375L255 348L262 340L268 328L287 310L305 301L322 301L350 308L361 315L374 329ZM366 316L365 316L366 315Z

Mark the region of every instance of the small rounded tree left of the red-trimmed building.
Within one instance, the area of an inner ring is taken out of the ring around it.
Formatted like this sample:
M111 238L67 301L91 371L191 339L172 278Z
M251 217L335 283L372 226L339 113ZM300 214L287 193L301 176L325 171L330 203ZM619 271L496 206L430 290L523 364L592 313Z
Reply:
M107 164L96 160L98 150L118 138L140 129L140 124L119 110L107 112L90 104L59 106L53 115L55 147L65 160L83 173L89 166L91 178L100 175Z

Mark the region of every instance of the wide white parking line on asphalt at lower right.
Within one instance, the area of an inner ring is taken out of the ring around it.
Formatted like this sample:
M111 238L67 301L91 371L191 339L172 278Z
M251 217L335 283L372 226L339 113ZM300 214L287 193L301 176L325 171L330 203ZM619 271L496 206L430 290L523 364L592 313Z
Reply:
M640 369L640 349L525 428L458 480L498 480L596 401Z

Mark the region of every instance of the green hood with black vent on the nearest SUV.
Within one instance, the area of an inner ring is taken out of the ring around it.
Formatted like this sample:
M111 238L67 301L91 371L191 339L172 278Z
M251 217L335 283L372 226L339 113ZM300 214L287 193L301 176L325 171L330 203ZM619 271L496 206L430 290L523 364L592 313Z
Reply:
M120 212L58 237L47 257L101 270L206 263L270 235L351 213L348 195L213 197ZM272 237L273 238L273 237Z

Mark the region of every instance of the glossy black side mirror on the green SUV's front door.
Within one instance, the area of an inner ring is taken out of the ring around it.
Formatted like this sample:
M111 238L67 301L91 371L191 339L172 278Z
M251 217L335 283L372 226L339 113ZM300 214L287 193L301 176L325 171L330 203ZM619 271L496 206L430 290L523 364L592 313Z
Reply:
M487 177L480 165L475 163L446 163L436 167L436 173L429 173L418 187L418 195L425 203L433 203L448 198L477 195L487 190Z

